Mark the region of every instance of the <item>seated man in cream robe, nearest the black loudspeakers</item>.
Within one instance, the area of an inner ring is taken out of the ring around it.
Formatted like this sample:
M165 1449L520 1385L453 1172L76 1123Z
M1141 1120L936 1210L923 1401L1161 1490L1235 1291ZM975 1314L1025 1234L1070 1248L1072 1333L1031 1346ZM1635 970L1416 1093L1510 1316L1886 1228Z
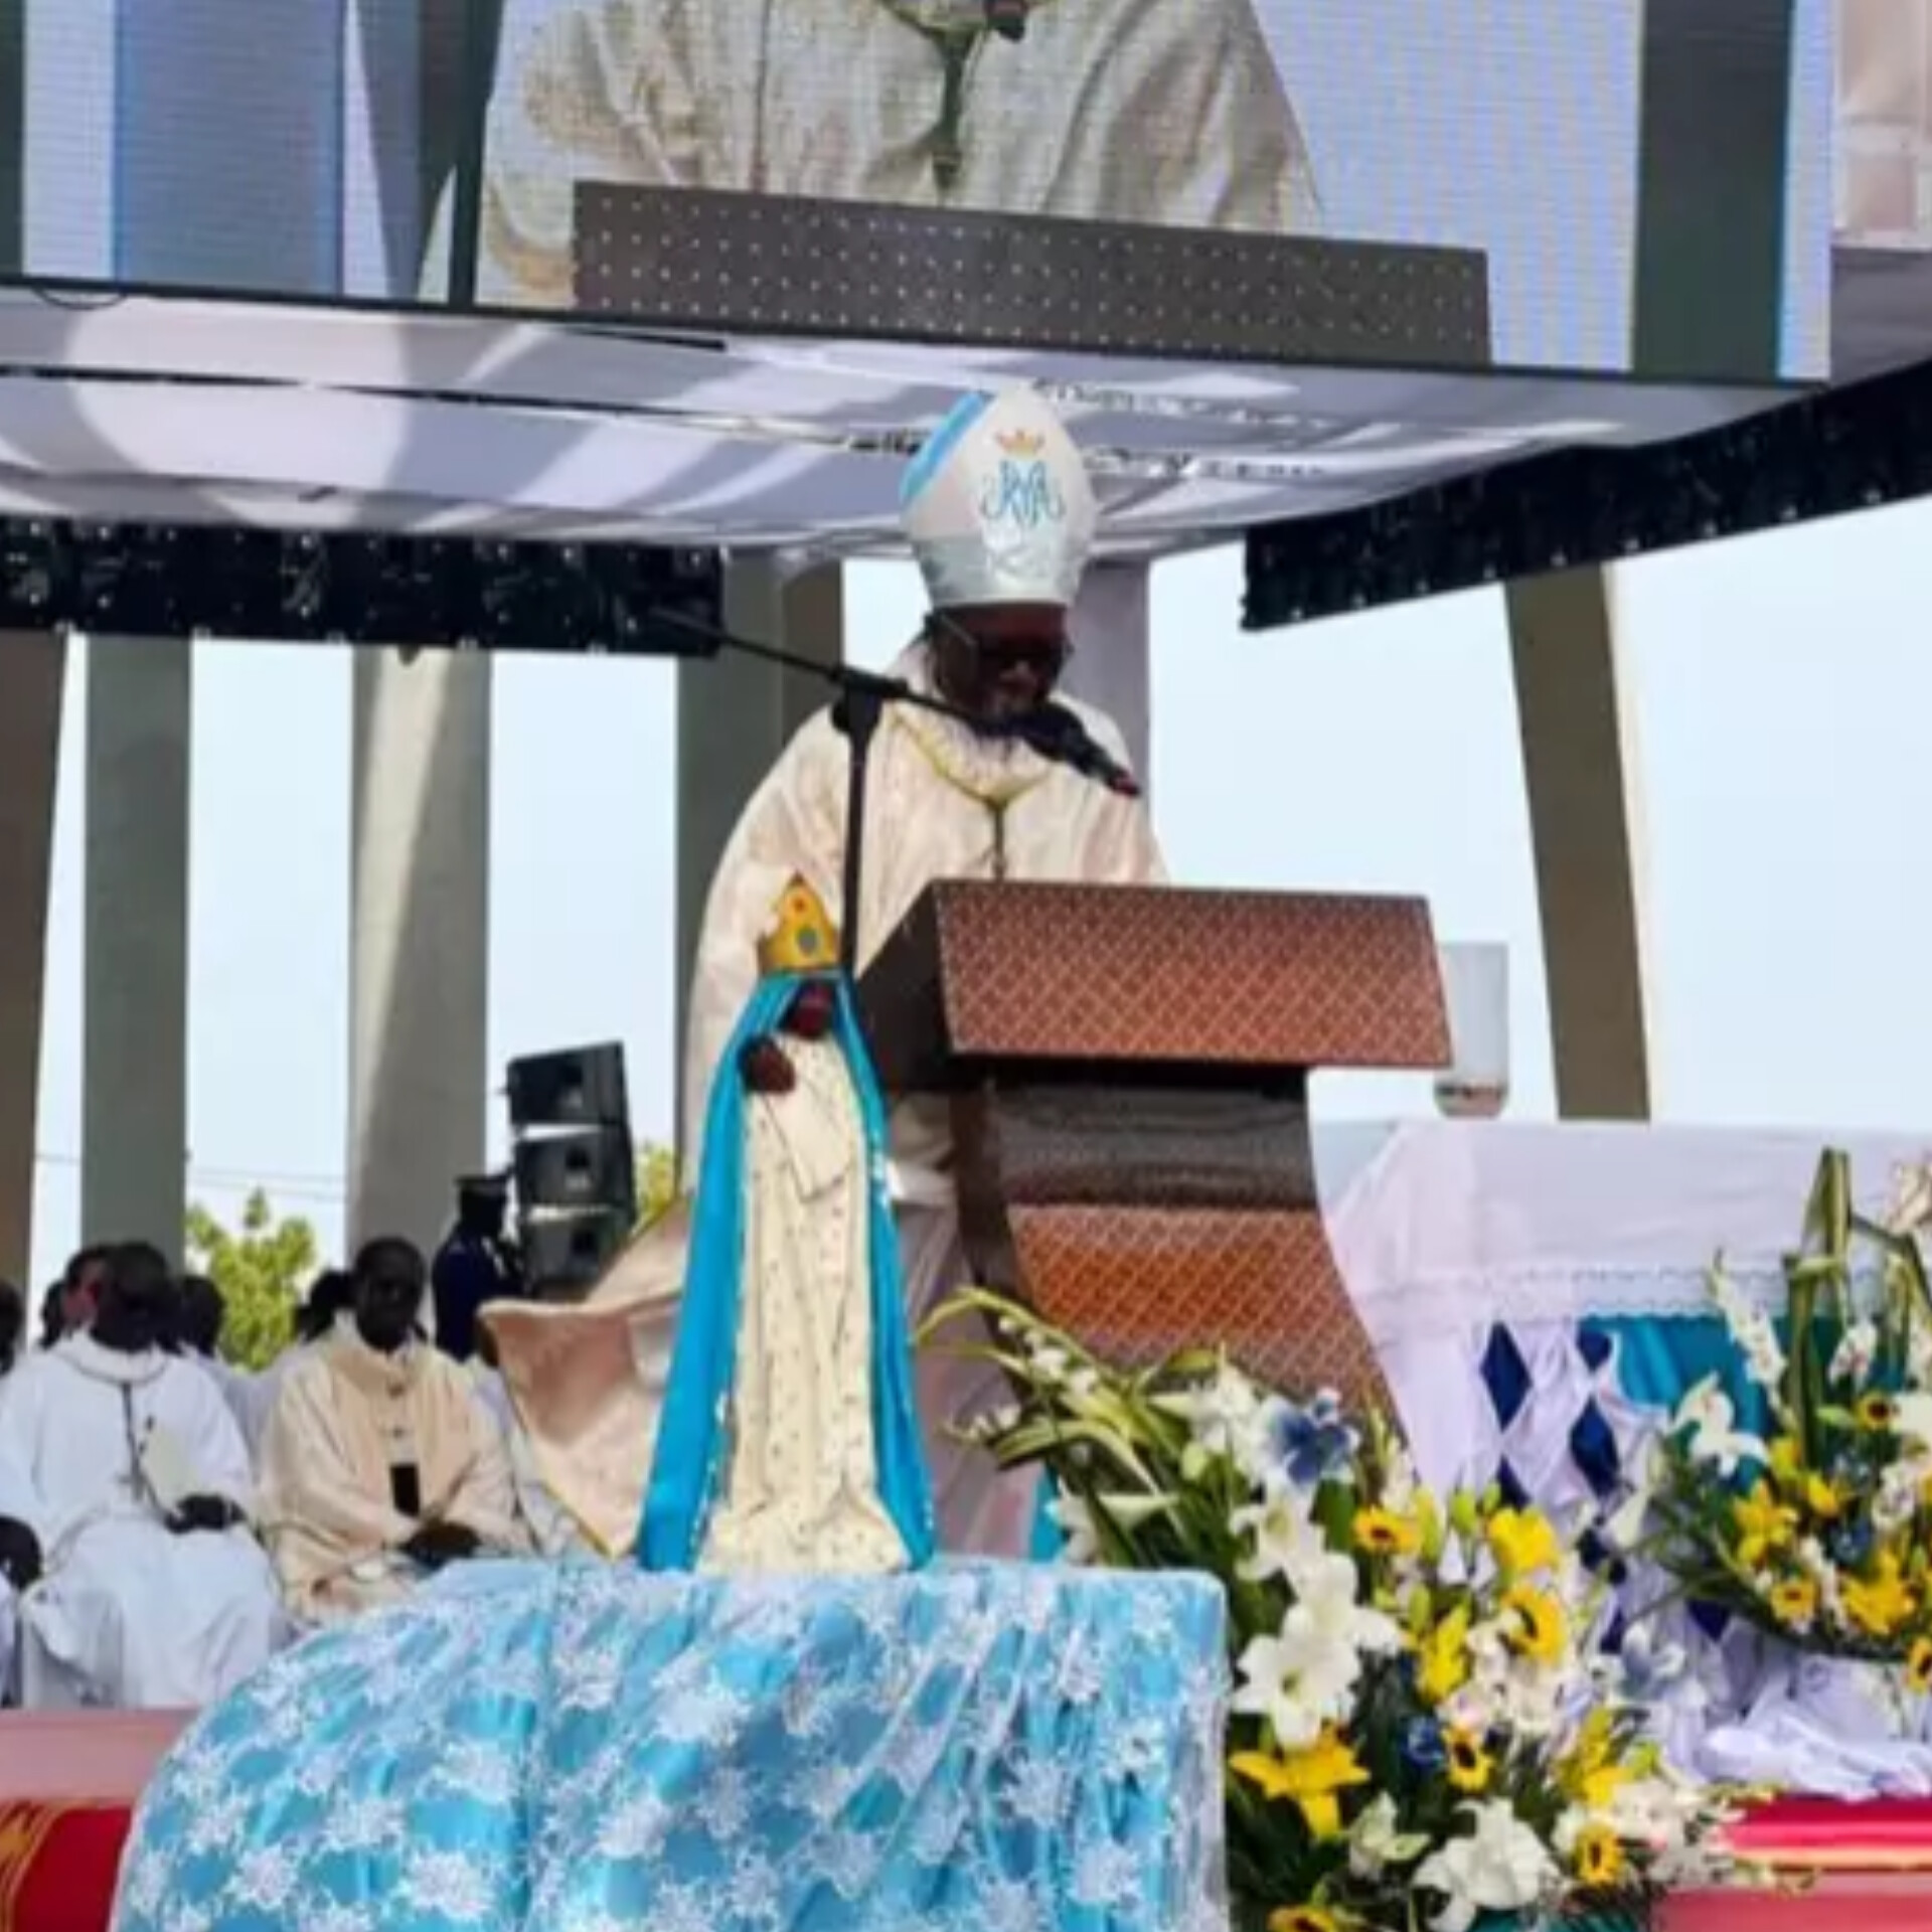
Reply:
M408 1240L355 1256L355 1318L290 1366L263 1443L263 1534L290 1615L334 1623L520 1549L510 1466L469 1372L423 1339Z

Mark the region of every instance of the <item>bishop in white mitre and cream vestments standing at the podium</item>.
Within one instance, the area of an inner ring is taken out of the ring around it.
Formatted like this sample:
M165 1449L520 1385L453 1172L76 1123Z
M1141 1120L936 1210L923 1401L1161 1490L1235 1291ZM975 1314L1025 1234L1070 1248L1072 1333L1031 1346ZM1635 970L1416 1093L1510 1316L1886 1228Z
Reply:
M703 1173L707 1095L757 985L757 937L794 877L856 920L864 970L937 879L1153 885L1146 806L1016 732L1055 697L1097 508L1072 437L1034 390L960 404L906 473L902 512L931 614L893 667L960 717L889 705L871 748L862 904L840 904L846 746L810 719L746 806L705 906L686 1041L686 1180ZM1088 649L1105 651L1094 638ZM1099 713L1066 703L1117 761ZM912 1325L966 1279L945 1101L895 1099L889 1184ZM553 1484L607 1548L626 1548L638 1480L612 1445L657 1424L684 1289L686 1213L653 1225L580 1308L493 1312L504 1379ZM949 1551L1024 1555L1037 1476L1001 1476L956 1428L1005 1399L999 1372L922 1356L918 1406Z

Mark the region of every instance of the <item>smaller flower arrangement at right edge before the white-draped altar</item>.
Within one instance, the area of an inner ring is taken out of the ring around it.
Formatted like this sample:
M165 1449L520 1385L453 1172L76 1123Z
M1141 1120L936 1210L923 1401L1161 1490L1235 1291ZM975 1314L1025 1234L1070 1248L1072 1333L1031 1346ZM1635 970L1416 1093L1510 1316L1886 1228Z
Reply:
M1712 1296L1762 1416L1716 1376L1652 1459L1658 1561L1683 1592L1793 1644L1897 1665L1932 1690L1932 1294L1917 1231L1932 1177L1901 1175L1880 1221L1851 1167L1818 1165L1779 1320L1719 1258ZM1876 1264L1876 1265L1874 1265Z

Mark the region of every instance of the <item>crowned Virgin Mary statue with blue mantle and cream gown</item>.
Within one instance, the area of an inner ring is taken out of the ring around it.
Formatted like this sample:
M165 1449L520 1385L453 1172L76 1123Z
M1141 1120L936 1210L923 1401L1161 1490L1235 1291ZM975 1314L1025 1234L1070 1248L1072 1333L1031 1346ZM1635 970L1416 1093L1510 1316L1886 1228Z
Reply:
M885 1105L837 956L794 877L711 1088L645 1569L879 1573L933 1553Z

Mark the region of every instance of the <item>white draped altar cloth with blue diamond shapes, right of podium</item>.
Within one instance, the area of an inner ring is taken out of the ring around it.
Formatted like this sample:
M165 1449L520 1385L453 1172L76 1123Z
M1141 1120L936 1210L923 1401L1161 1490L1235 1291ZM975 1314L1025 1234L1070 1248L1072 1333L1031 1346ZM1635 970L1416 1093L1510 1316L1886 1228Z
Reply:
M1735 1358L1708 1269L1785 1302L1818 1155L1851 1155L1859 1206L1932 1136L1600 1124L1399 1128L1339 1190L1329 1238L1381 1354L1424 1476L1501 1482L1544 1507L1613 1503L1642 1437L1690 1381ZM1586 1551L1588 1553L1588 1551ZM1633 1577L1623 1611L1663 1582ZM1607 1642L1621 1640L1621 1615ZM1702 1605L1681 1640L1673 1754L1704 1776L1832 1797L1932 1795L1932 1706L1857 1665L1801 1658Z

